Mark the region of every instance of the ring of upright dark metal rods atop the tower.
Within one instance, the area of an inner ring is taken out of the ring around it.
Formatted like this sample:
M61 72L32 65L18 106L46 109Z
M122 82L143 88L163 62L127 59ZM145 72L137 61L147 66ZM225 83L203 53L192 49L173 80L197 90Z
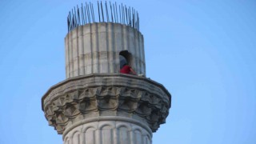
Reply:
M131 26L139 31L138 12L126 5L117 5L116 2L98 2L98 9L94 13L94 5L89 2L83 6L72 9L67 16L68 32L77 26L83 26L94 22L114 22ZM98 18L95 15L98 13Z

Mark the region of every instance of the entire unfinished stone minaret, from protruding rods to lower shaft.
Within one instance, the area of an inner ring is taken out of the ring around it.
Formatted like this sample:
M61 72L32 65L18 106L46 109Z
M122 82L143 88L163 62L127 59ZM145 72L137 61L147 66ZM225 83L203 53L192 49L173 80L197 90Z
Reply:
M67 23L66 80L42 97L49 125L64 144L152 143L152 132L166 122L171 96L146 78L137 11L86 3L69 13ZM138 75L120 74L124 63Z

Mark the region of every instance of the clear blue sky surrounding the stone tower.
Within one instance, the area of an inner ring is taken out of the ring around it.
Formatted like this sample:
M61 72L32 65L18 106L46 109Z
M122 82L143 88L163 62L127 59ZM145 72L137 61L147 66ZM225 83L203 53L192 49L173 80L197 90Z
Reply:
M82 2L0 0L1 144L62 143L41 98L66 78L66 17ZM256 1L116 2L138 10L146 76L172 94L153 143L255 144Z

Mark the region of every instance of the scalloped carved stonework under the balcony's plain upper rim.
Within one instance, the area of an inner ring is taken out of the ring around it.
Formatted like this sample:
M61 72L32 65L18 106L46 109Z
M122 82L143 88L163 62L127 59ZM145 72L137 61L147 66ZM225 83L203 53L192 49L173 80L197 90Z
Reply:
M114 79L114 81L117 80ZM73 85L75 85L74 83ZM58 89L58 86L55 87ZM116 115L123 112L137 115L139 118L145 119L154 132L158 130L160 124L165 123L170 109L168 91L143 90L141 87L126 86L120 82L118 85L112 86L85 85L83 88L74 86L70 91L60 94L58 94L58 90L49 91L50 93L46 93L42 98L44 102L42 106L46 119L50 126L54 126L58 134L63 133L68 122L87 118L86 115L91 114L100 116L102 111L112 111L114 113L111 114ZM54 94L51 94L52 92ZM53 99L49 98L50 100L44 101L47 97L53 97Z

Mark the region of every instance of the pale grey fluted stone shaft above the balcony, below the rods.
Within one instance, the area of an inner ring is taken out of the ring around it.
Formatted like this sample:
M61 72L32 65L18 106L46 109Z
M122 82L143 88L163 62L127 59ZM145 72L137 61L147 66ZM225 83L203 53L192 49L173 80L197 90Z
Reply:
M65 38L66 78L103 73L117 74L119 53L132 54L130 66L146 75L143 35L130 26L98 22L78 26Z

